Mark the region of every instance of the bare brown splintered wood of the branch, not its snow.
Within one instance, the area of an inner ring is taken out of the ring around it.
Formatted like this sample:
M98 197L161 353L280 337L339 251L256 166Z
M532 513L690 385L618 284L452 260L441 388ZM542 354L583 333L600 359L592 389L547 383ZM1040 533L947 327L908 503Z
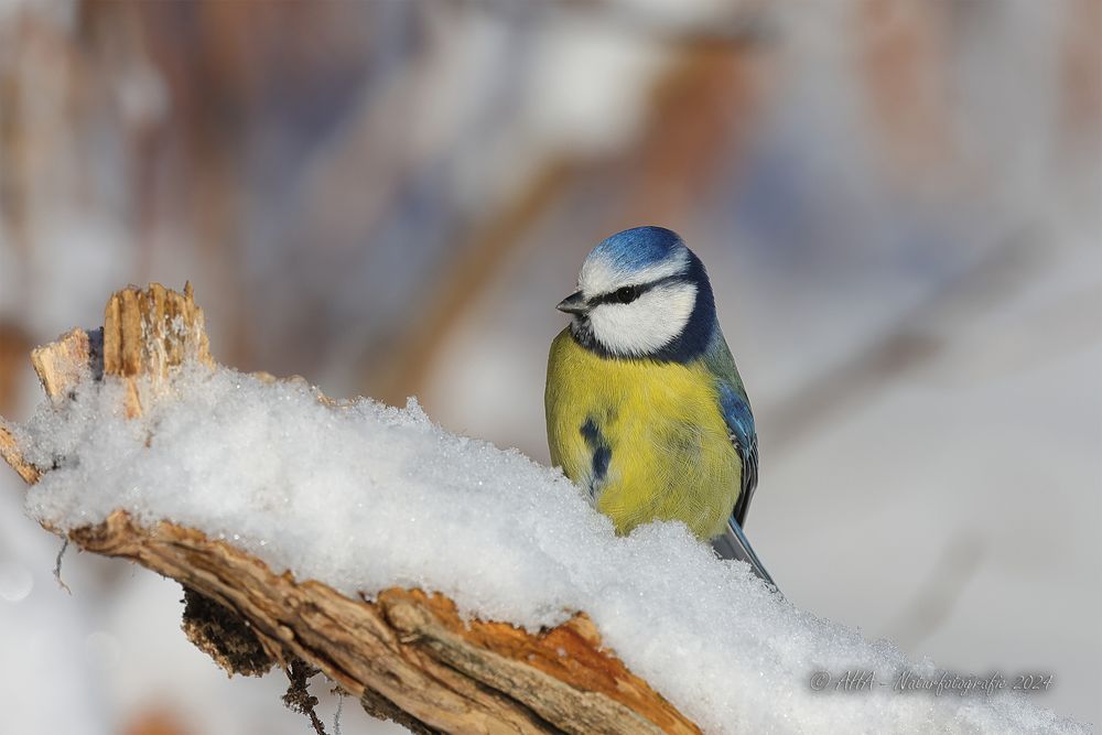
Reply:
M171 394L174 368L187 359L214 365L203 312L190 288L180 294L153 284L111 296L101 338L71 332L35 350L33 363L55 402L68 400L84 380L126 380L126 410L136 417ZM24 480L39 479L42 471L2 425L0 453ZM188 638L227 670L258 674L302 660L369 713L414 732L700 732L602 647L584 613L532 635L504 623L466 621L447 597L418 590L349 598L320 582L277 574L198 530L144 527L123 510L68 539L183 584Z

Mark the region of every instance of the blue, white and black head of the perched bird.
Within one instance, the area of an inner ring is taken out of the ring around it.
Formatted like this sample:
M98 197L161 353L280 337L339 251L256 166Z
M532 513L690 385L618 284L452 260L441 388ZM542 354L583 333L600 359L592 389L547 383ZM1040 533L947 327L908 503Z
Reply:
M707 348L715 302L704 266L677 233L636 227L582 263L577 291L557 306L583 346L615 357L684 360Z

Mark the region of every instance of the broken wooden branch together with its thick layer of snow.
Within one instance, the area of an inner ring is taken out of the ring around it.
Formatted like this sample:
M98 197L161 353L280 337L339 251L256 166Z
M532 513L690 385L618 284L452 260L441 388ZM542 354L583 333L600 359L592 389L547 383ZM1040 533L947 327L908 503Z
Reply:
M943 672L683 525L617 536L560 472L415 401L220 367L190 289L120 291L32 363L47 400L0 422L26 512L177 580L188 639L231 672L281 666L306 714L321 671L414 732L1088 732L1011 691L900 691ZM811 683L847 671L875 689Z

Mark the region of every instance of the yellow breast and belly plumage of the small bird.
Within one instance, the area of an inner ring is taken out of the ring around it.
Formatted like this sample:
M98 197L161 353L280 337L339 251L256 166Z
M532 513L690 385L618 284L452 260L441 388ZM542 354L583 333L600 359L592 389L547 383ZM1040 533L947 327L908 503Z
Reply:
M655 519L683 521L701 539L724 531L742 462L703 363L605 358L563 329L544 399L551 461L618 532Z

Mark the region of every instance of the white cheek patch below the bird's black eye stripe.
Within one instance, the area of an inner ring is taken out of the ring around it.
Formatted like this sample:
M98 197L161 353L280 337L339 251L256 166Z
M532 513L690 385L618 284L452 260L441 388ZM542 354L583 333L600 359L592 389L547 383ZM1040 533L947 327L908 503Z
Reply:
M648 355L681 334L695 304L695 285L661 285L629 304L602 304L594 309L590 313L593 336L614 354Z

